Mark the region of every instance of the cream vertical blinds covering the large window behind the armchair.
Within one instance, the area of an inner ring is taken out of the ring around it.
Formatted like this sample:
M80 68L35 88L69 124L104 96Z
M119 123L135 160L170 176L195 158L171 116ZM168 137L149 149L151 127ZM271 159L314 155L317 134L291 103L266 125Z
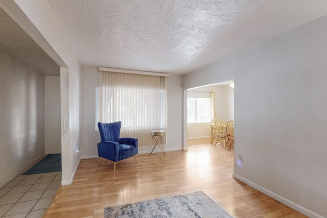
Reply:
M121 121L121 137L152 144L151 130L166 128L166 77L100 71L100 120Z

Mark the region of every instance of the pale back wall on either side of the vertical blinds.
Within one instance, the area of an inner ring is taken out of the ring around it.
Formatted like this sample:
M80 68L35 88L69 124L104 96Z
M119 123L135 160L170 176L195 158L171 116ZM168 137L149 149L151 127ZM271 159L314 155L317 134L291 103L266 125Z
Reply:
M171 75L167 79L167 143L165 151L182 149L182 76ZM80 151L83 158L98 157L97 144L100 142L99 131L95 130L96 86L100 86L98 67L82 68L81 80L81 142ZM139 146L138 153L150 153L153 144Z

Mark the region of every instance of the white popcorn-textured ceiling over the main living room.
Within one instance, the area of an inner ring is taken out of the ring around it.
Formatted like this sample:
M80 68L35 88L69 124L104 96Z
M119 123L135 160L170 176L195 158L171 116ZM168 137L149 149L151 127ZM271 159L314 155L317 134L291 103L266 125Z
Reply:
M179 75L327 15L325 0L48 3L82 65Z

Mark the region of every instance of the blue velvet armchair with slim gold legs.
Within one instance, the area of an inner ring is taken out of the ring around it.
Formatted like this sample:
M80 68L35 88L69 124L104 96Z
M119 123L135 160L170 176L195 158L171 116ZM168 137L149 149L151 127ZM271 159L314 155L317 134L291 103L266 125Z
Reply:
M101 142L98 143L98 155L114 162L113 173L115 173L116 162L134 156L135 162L137 154L137 138L120 138L122 122L110 124L98 123Z

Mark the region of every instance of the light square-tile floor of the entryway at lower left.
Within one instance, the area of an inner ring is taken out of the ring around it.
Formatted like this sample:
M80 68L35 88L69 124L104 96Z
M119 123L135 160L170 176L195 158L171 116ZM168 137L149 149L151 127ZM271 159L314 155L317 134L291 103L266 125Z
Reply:
M61 185L61 172L19 175L0 188L0 217L38 218Z

